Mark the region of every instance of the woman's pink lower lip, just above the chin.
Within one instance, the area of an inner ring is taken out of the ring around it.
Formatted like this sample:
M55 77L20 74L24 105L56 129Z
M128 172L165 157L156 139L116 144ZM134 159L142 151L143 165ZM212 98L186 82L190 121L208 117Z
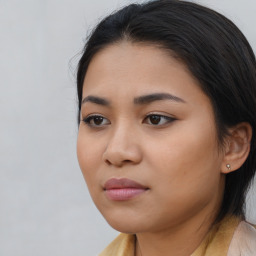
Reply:
M118 188L105 191L107 197L113 201L126 201L146 192L143 188Z

